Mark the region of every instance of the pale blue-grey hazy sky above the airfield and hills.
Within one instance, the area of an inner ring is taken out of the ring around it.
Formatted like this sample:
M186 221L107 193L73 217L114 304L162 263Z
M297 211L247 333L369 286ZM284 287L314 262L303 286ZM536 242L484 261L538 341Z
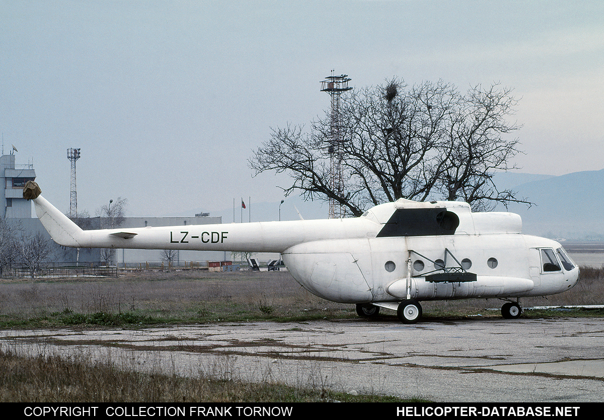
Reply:
M329 109L332 70L353 88L501 83L519 100L520 172L604 168L599 0L0 0L0 16L4 152L65 212L71 147L91 215L117 197L130 216L277 208L289 177L254 177L248 159Z

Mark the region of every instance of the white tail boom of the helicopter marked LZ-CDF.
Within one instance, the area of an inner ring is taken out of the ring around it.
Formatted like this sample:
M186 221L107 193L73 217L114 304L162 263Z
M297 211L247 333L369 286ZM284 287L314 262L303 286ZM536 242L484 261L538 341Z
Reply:
M380 229L379 224L373 221L349 218L83 231L42 196L36 197L33 202L38 218L53 240L62 246L79 248L282 253L295 244L307 241L375 237Z

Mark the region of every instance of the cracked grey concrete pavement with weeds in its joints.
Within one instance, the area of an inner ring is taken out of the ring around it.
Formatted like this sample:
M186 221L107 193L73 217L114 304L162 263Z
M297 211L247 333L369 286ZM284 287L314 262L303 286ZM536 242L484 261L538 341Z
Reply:
M143 371L201 372L437 402L604 400L600 318L3 330L0 340L30 354L111 359Z

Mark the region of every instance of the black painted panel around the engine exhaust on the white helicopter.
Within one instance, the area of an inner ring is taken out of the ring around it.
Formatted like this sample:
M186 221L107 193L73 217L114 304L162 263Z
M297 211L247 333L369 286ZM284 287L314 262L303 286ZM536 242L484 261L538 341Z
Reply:
M459 217L445 208L396 209L377 238L453 235L457 226Z

